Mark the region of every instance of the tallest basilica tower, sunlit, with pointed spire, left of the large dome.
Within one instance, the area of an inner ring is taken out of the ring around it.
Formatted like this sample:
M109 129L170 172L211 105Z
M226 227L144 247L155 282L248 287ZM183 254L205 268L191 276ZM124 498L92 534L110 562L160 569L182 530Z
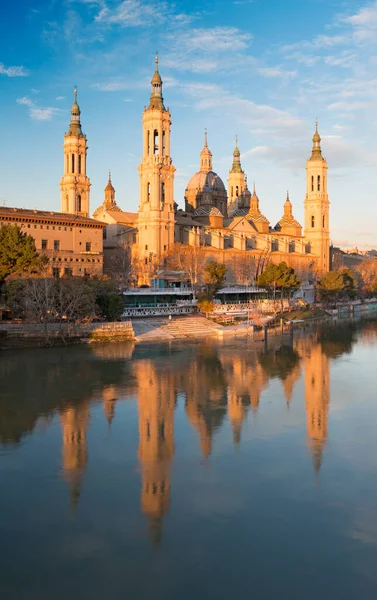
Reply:
M143 113L143 157L138 167L140 205L138 215L139 258L158 266L161 257L174 245L174 172L170 157L171 115L164 106L162 80L152 77L148 108Z

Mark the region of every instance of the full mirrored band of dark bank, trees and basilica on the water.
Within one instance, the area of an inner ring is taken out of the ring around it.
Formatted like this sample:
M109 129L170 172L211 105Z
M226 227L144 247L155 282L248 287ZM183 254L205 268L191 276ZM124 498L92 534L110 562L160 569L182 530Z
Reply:
M62 474L75 507L85 485L91 408L101 402L110 427L117 419L116 404L136 397L140 508L158 545L171 502L174 420L181 399L201 455L208 460L226 421L234 444L240 445L243 427L249 415L256 416L270 382L281 383L289 408L302 380L307 442L318 474L328 439L330 364L351 351L356 334L353 325L318 329L262 353L246 344L208 341L153 348L95 346L48 355L27 352L17 360L9 353L0 363L0 442L19 444L38 423L48 427L59 416ZM365 326L362 336L375 342L376 324Z

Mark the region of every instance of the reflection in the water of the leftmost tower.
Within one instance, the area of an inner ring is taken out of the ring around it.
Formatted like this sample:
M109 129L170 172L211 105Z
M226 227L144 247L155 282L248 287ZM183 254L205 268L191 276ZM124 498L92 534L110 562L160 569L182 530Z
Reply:
M89 424L89 403L68 408L60 419L63 428L63 476L70 487L71 503L76 505L88 462L86 430Z

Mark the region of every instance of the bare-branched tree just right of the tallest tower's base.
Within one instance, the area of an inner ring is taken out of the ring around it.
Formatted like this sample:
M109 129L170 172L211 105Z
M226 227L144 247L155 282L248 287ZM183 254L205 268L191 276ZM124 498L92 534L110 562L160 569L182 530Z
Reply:
M181 271L190 281L195 299L206 261L204 246L176 244L166 260L168 267Z

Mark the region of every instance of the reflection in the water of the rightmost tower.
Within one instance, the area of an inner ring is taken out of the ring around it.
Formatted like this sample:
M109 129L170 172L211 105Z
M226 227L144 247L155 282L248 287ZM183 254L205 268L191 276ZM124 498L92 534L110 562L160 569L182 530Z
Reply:
M327 422L330 402L329 359L321 346L310 345L305 359L305 403L307 435L315 470L319 471L327 440Z

